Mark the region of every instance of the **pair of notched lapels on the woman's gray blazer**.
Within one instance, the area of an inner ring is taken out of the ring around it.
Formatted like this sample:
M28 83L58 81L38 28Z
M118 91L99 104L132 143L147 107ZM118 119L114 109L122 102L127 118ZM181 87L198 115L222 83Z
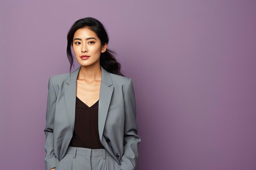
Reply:
M72 130L72 135L74 132L75 124L75 111L76 111L76 83L77 76L80 71L81 66L71 73L66 79L64 84L64 97L65 105L67 110L67 117L70 123L70 129ZM101 66L101 85L99 93L99 110L98 110L98 129L99 129L99 139L102 140L103 130L105 126L105 121L108 113L108 108L110 105L110 100L113 93L113 83L110 77L110 73L106 71Z

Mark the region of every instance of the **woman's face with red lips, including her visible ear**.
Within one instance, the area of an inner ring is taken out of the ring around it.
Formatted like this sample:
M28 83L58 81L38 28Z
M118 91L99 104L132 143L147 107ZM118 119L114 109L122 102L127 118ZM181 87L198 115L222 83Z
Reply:
M73 38L73 50L76 55L76 60L81 66L89 66L99 62L101 53L107 49L107 44L101 48L101 40L97 37L96 33L88 28L76 30ZM83 60L81 55L90 56L88 59Z

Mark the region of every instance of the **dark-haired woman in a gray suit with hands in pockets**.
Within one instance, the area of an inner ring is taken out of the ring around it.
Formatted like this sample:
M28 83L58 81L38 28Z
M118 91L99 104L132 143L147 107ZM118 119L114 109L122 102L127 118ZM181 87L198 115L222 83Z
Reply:
M135 93L108 41L103 24L91 17L67 34L70 73L48 81L46 170L135 169L141 141ZM81 65L72 73L71 46Z

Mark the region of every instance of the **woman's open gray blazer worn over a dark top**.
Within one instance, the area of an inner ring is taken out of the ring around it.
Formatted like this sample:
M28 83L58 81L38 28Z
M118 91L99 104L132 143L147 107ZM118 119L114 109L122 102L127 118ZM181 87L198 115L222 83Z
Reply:
M76 79L81 66L53 75L48 82L45 125L45 168L57 166L72 139L75 122ZM99 139L122 170L134 170L141 138L137 135L132 79L109 73L101 66ZM107 140L108 139L108 140Z

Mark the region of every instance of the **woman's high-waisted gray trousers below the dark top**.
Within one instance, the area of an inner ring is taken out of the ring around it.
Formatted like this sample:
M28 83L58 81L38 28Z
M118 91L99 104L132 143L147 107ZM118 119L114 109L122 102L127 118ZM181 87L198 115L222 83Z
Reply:
M68 146L55 170L121 170L117 161L106 149Z

